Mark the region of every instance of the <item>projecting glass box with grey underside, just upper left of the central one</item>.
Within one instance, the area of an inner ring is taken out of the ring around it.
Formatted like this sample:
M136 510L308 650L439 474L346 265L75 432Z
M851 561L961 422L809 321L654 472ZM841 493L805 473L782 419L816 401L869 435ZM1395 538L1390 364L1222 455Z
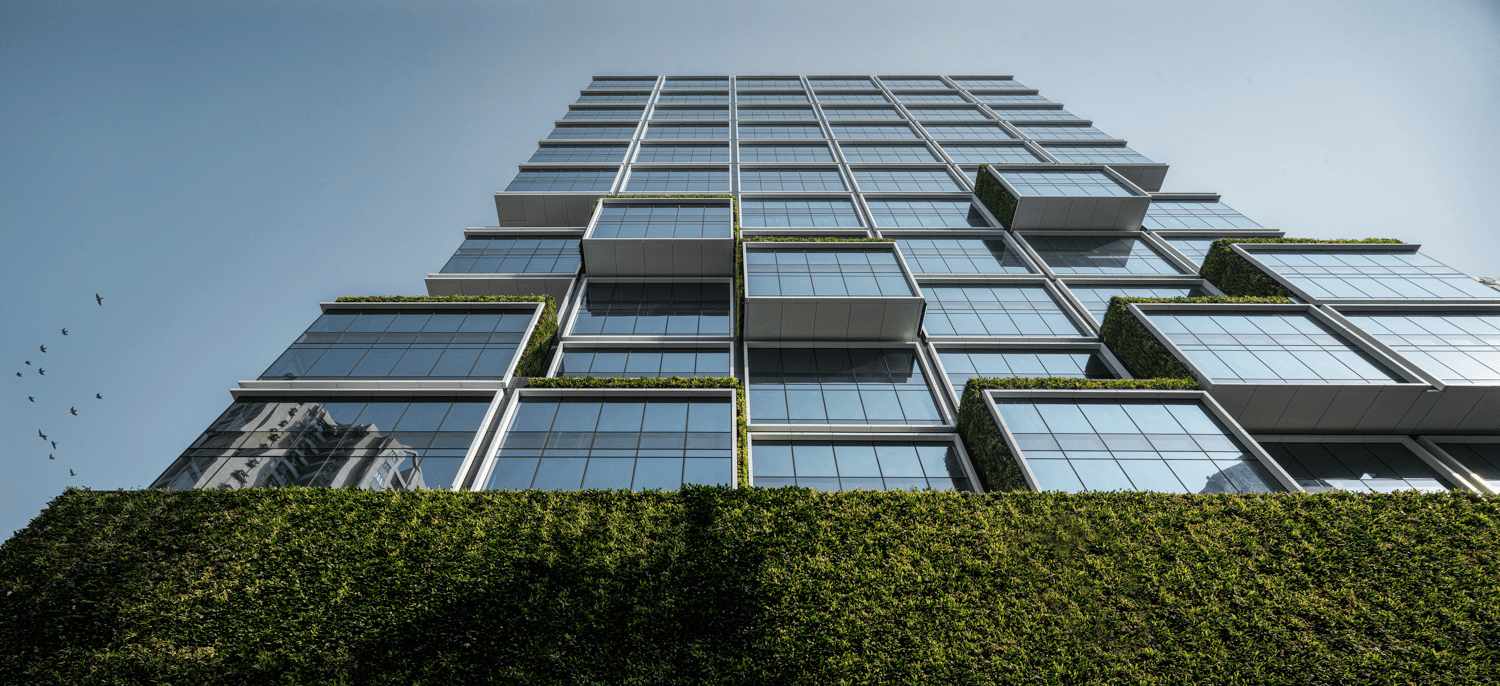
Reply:
M730 198L603 198L584 234L591 276L734 276Z

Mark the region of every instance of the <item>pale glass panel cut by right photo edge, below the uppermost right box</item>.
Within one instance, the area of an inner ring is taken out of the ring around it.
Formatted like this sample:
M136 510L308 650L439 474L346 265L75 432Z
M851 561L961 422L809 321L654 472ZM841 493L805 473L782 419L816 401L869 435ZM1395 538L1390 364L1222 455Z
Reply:
M1444 383L1500 381L1500 315L1347 312L1346 317Z

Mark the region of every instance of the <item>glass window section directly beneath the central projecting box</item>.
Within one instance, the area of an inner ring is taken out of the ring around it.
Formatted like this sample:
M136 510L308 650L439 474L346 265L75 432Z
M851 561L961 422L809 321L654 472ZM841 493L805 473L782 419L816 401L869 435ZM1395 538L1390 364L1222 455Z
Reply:
M750 422L940 425L912 348L750 348Z

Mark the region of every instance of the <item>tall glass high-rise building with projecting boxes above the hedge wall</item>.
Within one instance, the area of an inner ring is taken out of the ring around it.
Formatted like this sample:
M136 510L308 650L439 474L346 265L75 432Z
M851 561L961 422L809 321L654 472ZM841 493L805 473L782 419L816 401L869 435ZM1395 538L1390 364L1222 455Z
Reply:
M1500 489L1500 293L1166 174L1004 75L596 77L429 299L322 303L156 485ZM1192 383L962 401L1132 371Z

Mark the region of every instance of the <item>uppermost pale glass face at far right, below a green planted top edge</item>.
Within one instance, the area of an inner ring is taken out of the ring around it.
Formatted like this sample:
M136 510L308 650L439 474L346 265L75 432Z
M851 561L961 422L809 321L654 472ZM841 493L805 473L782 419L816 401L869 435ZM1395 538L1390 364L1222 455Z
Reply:
M1257 251L1256 258L1316 299L1494 299L1490 287L1420 252Z

